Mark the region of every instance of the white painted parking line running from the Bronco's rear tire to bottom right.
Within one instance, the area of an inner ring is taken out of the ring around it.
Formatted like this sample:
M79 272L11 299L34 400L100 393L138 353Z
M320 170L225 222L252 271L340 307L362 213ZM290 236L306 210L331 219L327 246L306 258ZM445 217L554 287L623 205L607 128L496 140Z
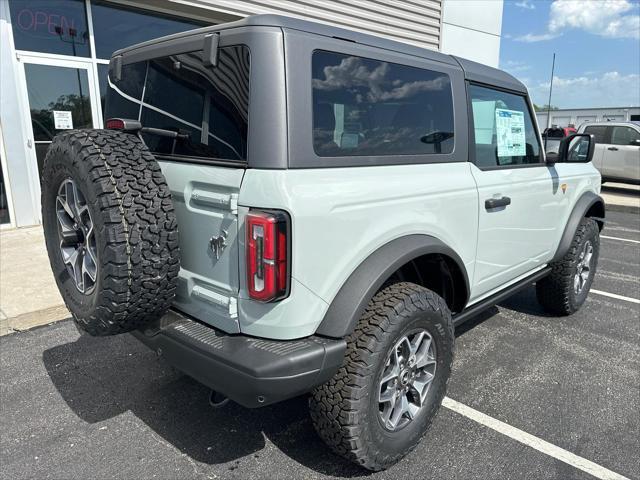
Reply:
M601 480L629 480L627 477L601 467L597 463L593 463L586 458L579 457L578 455L575 455L574 453L552 443L546 442L541 438L535 437L516 427L512 427L500 420L496 420L489 415L485 415L484 413L468 407L467 405L456 402L449 397L444 398L442 405L462 416L484 425L485 427L489 427L496 432L506 435L517 442L527 445L528 447L538 450L539 452L549 455L550 457L560 460L561 462L571 465L583 472L587 472L596 478L600 478Z

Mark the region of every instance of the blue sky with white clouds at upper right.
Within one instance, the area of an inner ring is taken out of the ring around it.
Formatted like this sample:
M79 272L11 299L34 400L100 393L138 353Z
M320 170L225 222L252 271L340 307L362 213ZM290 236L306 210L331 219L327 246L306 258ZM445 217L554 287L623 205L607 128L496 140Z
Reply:
M640 106L640 0L504 0L500 68L537 105Z

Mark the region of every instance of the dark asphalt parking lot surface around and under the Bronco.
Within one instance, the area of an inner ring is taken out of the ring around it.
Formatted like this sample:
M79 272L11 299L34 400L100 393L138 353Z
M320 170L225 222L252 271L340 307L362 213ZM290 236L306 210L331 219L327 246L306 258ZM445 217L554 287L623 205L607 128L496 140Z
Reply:
M593 462L595 477L640 478L638 215L608 214L593 288L570 318L528 289L458 328L448 397ZM0 360L1 478L594 478L449 408L370 474L324 447L305 398L214 410L132 337L79 337L69 321L0 338Z

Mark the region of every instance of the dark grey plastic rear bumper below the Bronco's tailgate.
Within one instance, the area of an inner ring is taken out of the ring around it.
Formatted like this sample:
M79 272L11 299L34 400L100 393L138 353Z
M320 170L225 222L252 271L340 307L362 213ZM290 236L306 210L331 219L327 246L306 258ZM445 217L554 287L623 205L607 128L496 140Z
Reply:
M254 408L308 392L342 365L346 342L228 335L175 311L133 335L167 362L231 400Z

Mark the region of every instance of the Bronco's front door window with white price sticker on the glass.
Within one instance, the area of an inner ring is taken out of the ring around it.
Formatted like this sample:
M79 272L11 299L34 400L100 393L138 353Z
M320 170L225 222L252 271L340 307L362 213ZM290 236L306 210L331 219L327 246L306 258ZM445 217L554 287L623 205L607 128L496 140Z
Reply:
M525 98L470 85L478 167L541 163L540 143Z

